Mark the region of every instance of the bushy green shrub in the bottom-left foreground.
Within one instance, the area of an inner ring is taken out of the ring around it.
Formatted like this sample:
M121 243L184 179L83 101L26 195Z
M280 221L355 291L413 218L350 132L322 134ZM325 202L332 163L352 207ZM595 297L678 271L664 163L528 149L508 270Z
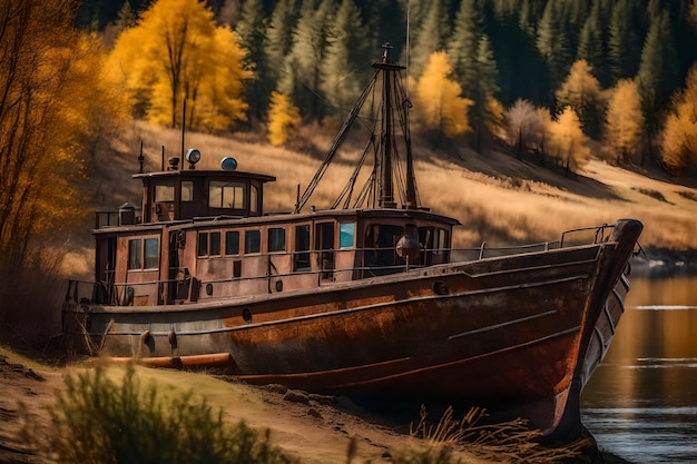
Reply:
M104 367L66 379L46 432L47 451L61 463L276 464L293 463L244 422L223 421L192 393L158 395L128 367L121 382Z

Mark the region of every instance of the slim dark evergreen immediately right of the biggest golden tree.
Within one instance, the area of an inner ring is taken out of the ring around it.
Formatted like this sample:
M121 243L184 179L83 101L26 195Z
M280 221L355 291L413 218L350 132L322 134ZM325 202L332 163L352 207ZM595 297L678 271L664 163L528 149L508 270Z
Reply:
M245 86L251 121L264 118L271 92L275 87L271 72L272 66L266 53L267 24L268 19L262 0L246 0L242 6L235 31L239 36L239 45L246 52L244 67L254 73L253 79Z

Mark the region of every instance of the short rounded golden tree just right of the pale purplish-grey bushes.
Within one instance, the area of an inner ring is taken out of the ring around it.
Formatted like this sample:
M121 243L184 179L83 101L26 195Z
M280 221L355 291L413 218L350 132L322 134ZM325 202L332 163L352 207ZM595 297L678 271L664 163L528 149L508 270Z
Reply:
M547 125L547 154L566 168L567 175L583 166L590 157L590 149L576 111L566 107L556 121L549 120Z

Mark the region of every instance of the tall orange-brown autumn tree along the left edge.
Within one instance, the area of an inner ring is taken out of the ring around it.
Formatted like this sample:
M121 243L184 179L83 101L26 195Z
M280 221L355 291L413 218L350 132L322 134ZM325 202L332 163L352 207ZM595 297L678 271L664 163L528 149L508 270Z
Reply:
M100 40L72 13L62 0L0 2L0 329L29 343L57 329L59 240L84 225L92 150L124 109Z

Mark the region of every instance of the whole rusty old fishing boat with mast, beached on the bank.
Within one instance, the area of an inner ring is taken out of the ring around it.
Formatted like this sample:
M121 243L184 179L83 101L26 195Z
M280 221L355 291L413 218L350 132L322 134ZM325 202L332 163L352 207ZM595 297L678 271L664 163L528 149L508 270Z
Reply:
M387 50L292 211L265 211L275 178L233 158L197 169L202 154L189 149L144 172L141 152L140 206L97 211L95 282L69 282L68 349L325 394L478 405L579 436L579 395L622 315L642 225L453 249L460 221L419 198L404 68ZM332 207L307 207L375 93L356 171Z

